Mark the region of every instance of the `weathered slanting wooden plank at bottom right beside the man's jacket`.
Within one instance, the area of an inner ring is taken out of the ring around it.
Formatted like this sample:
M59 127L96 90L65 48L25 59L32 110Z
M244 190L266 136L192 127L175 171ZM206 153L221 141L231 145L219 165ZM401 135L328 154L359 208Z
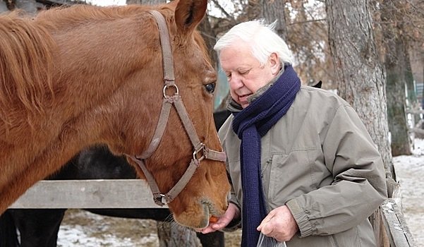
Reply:
M392 247L416 246L399 206L389 198L381 205L382 222Z

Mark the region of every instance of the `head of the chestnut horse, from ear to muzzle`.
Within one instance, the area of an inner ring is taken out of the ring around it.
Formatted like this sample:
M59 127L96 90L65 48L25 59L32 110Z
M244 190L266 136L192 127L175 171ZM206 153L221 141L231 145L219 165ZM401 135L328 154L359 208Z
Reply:
M173 1L157 8L166 20L164 30L169 30L169 52L166 52L164 45L160 46L164 43L164 37L161 37L164 34L159 34L156 28L157 20L146 16L145 25L153 27L148 32L149 47L156 52L150 54L150 68L146 70L144 67L140 71L134 71L128 85L149 84L148 90L152 91L149 95L155 96L148 102L145 99L140 101L140 104L135 104L133 100L127 101L128 105L123 107L125 111L121 112L122 122L119 125L124 126L128 132L125 138L121 136L119 142L109 143L111 150L132 157L128 162L134 165L140 176L150 182L152 189L157 186L157 191L153 191L155 200L160 201L158 195L162 196L163 203L168 204L174 219L179 224L193 228L207 226L211 215L222 215L228 205L226 198L229 193L223 160L219 162L207 159L207 154L202 153L208 150L222 150L212 118L212 99L217 76L207 57L205 44L195 30L205 14L206 6L207 1ZM169 59L173 59L175 63L170 64L171 68L166 68L166 60ZM164 72L151 73L161 71L162 68ZM171 79L166 78L166 74L163 78L166 70L174 72ZM169 81L171 85L168 84ZM133 96L143 95L143 90L146 90L144 86L133 86ZM178 97L174 98L174 95ZM168 101L168 104L174 100L181 100L182 103L180 107L166 110L166 103L162 104L158 100L159 97ZM186 107L183 112L187 112L187 115L181 115L181 105ZM147 110L143 109L146 107ZM149 112L149 120L145 117L137 120L139 116L145 116L146 111ZM162 115L160 118L159 115L166 111L169 111L169 116L164 121ZM187 124L184 123L187 121ZM162 128L163 133L159 136L156 132L140 135L140 123L143 123L143 128ZM193 126L191 133L190 126ZM198 142L193 143L193 138ZM178 183L193 166L193 159L198 159L194 161L198 161L195 171L191 172L189 180L186 178L187 181L181 186ZM181 193L166 194L174 189L178 190L177 184ZM167 196L172 198L166 200Z

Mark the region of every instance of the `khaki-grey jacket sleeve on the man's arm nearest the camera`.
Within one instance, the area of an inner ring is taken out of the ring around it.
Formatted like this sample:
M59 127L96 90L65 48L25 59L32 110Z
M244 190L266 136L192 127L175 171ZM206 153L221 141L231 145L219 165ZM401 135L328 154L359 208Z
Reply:
M286 203L301 237L351 229L387 198L380 153L349 105L340 105L329 121L322 153L333 182Z

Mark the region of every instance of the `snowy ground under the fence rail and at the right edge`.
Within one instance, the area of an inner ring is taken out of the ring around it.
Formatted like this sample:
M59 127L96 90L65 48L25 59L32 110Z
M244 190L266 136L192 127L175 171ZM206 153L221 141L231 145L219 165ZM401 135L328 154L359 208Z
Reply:
M401 212L417 247L424 247L424 140L415 139L413 155L393 158L401 184ZM226 246L240 246L241 231L226 234ZM146 219L103 217L68 210L59 231L59 247L159 246L157 222Z

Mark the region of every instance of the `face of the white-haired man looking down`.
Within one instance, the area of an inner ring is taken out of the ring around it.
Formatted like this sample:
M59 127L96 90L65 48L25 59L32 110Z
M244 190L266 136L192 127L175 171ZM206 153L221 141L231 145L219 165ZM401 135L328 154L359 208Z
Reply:
M265 65L261 65L244 41L222 49L219 61L229 80L231 97L243 108L249 104L248 96L267 85L280 71L277 54L272 53Z

